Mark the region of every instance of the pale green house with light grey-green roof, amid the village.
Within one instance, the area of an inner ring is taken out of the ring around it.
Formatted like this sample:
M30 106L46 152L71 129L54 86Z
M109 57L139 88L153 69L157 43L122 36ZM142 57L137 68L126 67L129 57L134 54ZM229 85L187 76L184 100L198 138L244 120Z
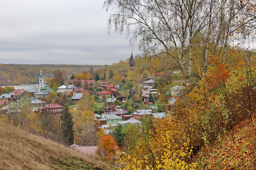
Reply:
M121 122L122 121L122 117L119 117L117 115L114 114L109 114L109 115L97 115L95 114L96 119L98 119L100 121L100 128L108 128L109 124L111 124L112 126L116 126L117 122Z

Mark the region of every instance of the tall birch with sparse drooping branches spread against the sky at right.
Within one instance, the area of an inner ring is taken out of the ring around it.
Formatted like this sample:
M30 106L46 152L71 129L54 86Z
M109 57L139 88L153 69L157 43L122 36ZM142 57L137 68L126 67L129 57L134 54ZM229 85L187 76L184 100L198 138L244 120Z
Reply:
M137 44L150 59L166 53L188 84L198 55L195 45L203 50L200 64L205 73L209 55L222 56L224 62L228 45L248 38L255 28L255 5L250 4L252 1L106 0L104 8L113 10L109 31L112 26L115 32L126 31L130 45Z

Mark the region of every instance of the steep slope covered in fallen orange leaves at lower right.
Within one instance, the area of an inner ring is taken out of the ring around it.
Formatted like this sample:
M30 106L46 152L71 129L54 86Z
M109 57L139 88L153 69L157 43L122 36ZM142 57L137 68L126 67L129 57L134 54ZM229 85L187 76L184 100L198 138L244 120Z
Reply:
M200 150L194 162L205 170L256 169L256 115L227 132L213 146Z

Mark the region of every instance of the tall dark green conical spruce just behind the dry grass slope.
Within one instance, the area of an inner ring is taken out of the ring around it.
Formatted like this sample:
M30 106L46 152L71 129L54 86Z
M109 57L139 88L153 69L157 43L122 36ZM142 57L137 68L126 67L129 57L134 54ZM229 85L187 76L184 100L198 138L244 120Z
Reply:
M62 114L61 114L61 137L64 140L64 142L68 145L71 145L74 143L74 122L72 122L72 115L69 112L69 108L65 106Z

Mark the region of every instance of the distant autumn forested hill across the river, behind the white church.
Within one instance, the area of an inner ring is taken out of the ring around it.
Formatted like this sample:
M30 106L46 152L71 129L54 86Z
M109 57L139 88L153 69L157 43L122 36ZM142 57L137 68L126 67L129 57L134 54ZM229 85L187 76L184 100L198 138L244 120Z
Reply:
M102 65L68 65L68 64L0 64L0 86L36 84L40 71L48 79L52 78L55 69L65 71L67 77L72 73L81 74L89 71L104 68Z

